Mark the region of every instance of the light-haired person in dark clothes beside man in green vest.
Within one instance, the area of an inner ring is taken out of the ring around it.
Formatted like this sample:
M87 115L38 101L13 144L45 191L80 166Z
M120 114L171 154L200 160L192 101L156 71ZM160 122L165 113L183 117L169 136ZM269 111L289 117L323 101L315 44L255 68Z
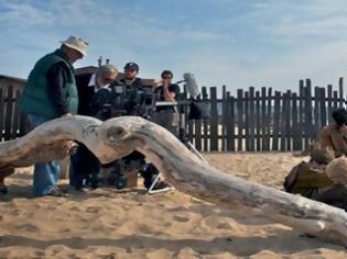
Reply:
M89 94L89 103L93 97L100 89L107 89L117 78L118 69L111 64L98 67L96 72L90 77L86 90L93 91ZM86 98L87 99L87 98ZM84 115L93 116L93 112L88 109ZM98 173L100 162L98 158L82 143L78 143L77 151L71 157L69 167L69 184L77 191L85 191L84 187L96 189L98 187Z

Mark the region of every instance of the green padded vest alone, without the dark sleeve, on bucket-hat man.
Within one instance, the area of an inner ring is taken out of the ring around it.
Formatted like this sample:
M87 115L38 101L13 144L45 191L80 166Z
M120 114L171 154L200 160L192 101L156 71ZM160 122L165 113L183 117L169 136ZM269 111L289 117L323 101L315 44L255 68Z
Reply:
M55 119L62 115L56 111L56 108L50 101L47 94L48 86L46 80L46 74L48 69L53 65L61 61L63 61L68 68L67 83L65 87L65 92L62 94L64 94L67 100L69 112L72 114L77 114L78 93L74 67L66 54L61 49L56 49L55 52L42 57L30 72L23 93L19 99L19 109L22 112L26 114L41 115L48 119Z

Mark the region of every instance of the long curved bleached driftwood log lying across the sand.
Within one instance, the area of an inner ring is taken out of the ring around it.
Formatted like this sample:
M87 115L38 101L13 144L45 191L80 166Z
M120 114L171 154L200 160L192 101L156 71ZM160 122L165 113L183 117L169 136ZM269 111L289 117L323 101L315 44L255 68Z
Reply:
M221 172L193 155L165 128L141 117L104 123L86 116L51 121L19 139L0 143L0 169L52 160L66 140L84 143L104 164L137 149L184 193L347 246L347 213L343 210Z

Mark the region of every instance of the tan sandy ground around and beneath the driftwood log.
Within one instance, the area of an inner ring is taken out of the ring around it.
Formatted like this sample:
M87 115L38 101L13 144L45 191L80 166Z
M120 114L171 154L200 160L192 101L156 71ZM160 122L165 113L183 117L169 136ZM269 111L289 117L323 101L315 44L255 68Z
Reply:
M307 159L274 153L204 156L230 174L278 189ZM31 168L18 169L7 182L0 258L347 258L341 246L178 191L149 195L140 185L34 199Z

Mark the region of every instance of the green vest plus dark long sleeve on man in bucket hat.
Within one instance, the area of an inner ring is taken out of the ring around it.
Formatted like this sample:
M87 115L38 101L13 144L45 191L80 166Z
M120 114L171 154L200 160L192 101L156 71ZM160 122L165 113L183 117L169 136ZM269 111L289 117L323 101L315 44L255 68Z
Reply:
M50 89L56 85L62 88ZM19 100L19 109L26 114L55 119L67 112L77 114L77 105L74 67L66 54L56 49L35 64Z

